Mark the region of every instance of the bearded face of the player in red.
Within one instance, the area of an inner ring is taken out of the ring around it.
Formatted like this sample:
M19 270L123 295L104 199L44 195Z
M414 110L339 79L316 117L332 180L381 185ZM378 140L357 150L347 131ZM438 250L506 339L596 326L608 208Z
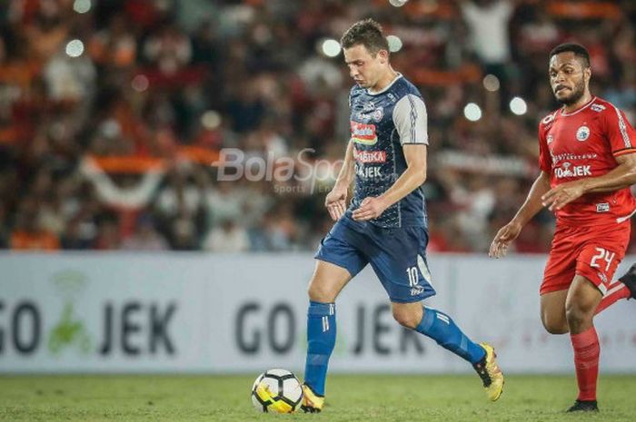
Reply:
M574 53L554 54L550 59L550 84L556 100L565 105L577 103L590 83L591 70Z

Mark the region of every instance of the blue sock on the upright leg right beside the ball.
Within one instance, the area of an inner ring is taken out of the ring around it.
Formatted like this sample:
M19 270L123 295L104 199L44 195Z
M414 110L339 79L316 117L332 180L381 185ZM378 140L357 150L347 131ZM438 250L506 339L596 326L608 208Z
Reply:
M304 382L324 396L329 357L335 346L335 303L309 302L307 311L307 360Z

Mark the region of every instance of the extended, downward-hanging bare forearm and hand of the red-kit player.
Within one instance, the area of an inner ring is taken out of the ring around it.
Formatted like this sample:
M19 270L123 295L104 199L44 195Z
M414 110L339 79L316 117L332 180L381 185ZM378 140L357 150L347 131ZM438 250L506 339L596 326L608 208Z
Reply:
M508 224L497 231L497 234L492 240L491 250L488 256L491 258L502 258L505 256L508 251L508 245L512 243L512 240L517 239L519 233L522 232L523 226L525 226L528 221L531 221L537 212L541 211L543 207L542 196L547 191L550 191L550 174L542 171L539 177L532 183L528 197L523 202L519 211L517 211Z

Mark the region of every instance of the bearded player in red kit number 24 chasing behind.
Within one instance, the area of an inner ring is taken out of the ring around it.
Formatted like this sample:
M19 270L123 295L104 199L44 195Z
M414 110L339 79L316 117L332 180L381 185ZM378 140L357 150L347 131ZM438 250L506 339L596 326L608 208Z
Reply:
M490 256L501 258L522 227L548 207L556 231L541 285L543 326L569 332L579 396L568 411L598 411L599 339L593 317L618 299L636 298L636 265L614 271L630 240L636 200L636 131L612 103L590 93L590 54L561 44L550 54L550 83L563 106L539 123L541 173L522 207L497 232Z

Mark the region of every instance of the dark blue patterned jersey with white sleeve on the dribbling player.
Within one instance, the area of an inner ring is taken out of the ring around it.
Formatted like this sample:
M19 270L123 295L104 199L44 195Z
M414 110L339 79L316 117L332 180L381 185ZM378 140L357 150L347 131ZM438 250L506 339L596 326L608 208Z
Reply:
M402 145L428 144L428 135L422 94L401 74L379 93L355 85L349 105L355 161L355 191L350 207L353 211L364 198L382 195L406 170ZM383 228L426 227L422 186L371 222Z

